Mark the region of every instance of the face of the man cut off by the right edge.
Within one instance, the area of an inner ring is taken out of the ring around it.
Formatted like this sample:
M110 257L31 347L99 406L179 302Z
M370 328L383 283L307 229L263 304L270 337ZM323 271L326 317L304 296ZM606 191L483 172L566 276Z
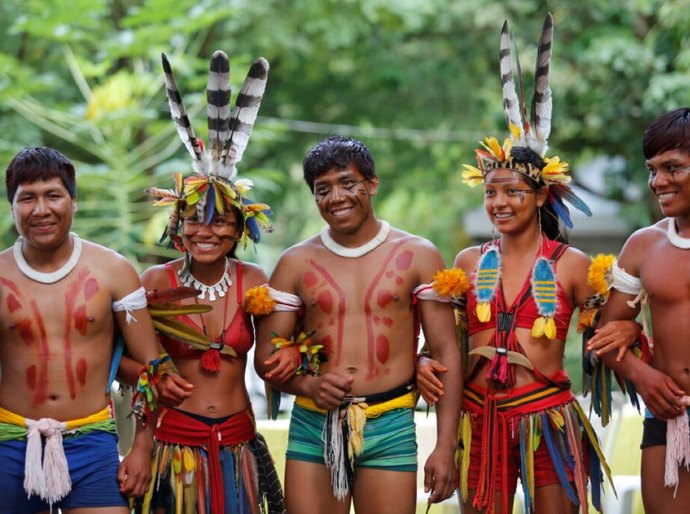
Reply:
M690 216L690 155L667 150L647 159L649 189L664 216Z

